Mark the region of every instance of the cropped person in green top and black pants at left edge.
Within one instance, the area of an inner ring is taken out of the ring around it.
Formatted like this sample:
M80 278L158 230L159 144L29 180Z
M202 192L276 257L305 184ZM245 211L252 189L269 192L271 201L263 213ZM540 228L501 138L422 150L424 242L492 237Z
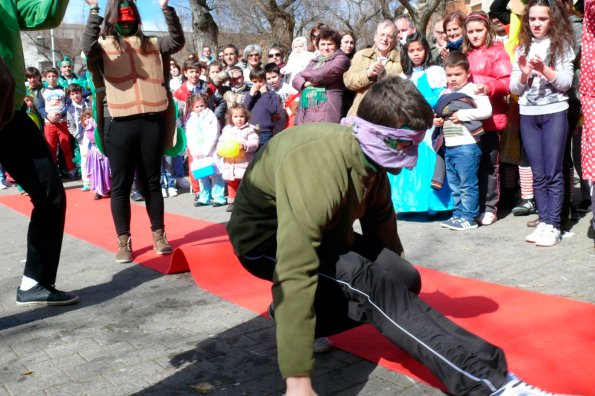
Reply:
M31 197L25 272L18 305L68 305L78 296L55 288L66 195L40 127L27 115L21 30L57 27L68 1L7 0L0 7L0 163Z

